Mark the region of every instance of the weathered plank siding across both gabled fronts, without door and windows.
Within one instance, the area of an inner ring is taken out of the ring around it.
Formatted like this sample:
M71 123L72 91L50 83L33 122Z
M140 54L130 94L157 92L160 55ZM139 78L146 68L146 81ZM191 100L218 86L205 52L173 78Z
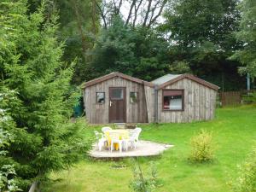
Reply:
M112 73L103 80L92 80L88 84L84 87L83 95L85 116L91 124L109 123L109 87L125 87L126 89L126 123L152 123L155 119L160 123L184 123L214 118L218 94L218 90L215 89L216 85L213 86L188 75L175 81L172 80L169 84L165 83L165 86L158 86L157 92L151 83L144 84L143 80L134 81L133 78ZM183 111L162 109L163 89L183 90ZM105 92L104 103L96 103L96 92ZM137 92L137 103L130 102L130 92ZM157 93L157 98L154 96L155 93ZM157 108L156 111L154 111L155 108Z

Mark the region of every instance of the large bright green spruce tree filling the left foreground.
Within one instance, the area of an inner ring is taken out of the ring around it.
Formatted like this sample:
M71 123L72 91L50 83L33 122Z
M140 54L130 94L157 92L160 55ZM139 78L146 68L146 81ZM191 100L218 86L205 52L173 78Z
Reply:
M14 142L0 163L15 165L26 191L32 181L71 166L88 147L80 133L83 125L70 121L77 102L70 86L73 64L61 61L58 17L46 8L43 3L27 15L26 0L0 3L1 84L16 90L19 100L9 106Z

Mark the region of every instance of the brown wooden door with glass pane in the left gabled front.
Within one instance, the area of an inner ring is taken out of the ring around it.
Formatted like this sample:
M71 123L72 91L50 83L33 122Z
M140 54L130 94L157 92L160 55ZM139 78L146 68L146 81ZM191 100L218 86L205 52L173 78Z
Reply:
M109 123L126 122L125 87L109 87Z

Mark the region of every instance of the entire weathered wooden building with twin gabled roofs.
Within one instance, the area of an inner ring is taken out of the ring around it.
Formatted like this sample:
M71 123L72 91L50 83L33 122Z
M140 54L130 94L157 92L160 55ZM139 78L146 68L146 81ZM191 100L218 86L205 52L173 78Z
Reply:
M91 124L192 122L214 118L218 86L191 74L152 82L109 73L82 86Z

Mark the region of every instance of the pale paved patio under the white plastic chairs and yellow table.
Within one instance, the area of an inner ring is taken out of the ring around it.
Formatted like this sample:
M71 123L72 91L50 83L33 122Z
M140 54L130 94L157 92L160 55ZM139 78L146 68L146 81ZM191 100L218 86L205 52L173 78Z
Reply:
M90 150L89 155L94 158L125 158L125 157L141 157L141 156L155 156L163 153L166 149L172 148L171 144L155 143L149 141L139 141L137 148L129 148L128 151L113 151L112 153L108 149L102 149L99 151L94 144Z

